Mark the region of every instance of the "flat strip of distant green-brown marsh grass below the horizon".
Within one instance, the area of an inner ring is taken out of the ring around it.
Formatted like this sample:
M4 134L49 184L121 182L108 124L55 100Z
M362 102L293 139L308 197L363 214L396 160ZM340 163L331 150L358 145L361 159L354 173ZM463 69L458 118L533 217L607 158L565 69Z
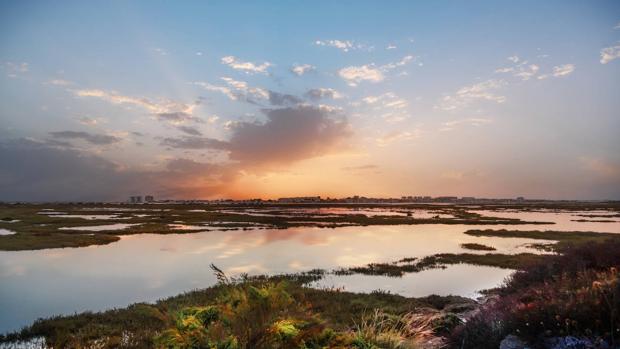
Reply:
M103 245L117 241L128 234L188 234L195 231L172 229L169 225L183 222L187 225L205 225L219 230L238 229L286 229L290 227L339 227L346 225L413 225L413 224L465 224L465 225L514 225L544 224L519 219L481 216L459 206L437 207L436 205L395 205L391 210L407 212L411 209L425 209L438 214L449 214L447 218L414 219L403 216L365 216L346 214L316 216L311 213L296 213L289 217L290 209L308 208L307 205L199 205L199 204L0 204L0 228L15 231L16 234L0 236L0 251L36 250L46 248L83 247ZM321 204L311 208L348 207L347 205ZM354 205L355 208L377 208L381 205ZM65 212L69 215L117 215L116 218L86 220L39 214L43 209ZM274 216L255 216L244 209L259 209L261 213ZM201 210L192 212L192 210ZM226 212L222 212L226 211ZM235 211L235 212L229 212ZM138 217L136 214L147 216ZM97 226L114 223L135 224L123 230L79 231L59 230L79 226Z

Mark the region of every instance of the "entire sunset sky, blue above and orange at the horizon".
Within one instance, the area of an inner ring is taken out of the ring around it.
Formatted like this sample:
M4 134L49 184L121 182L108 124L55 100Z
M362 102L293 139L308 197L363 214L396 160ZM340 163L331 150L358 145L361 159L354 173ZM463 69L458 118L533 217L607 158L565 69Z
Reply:
M618 1L2 1L0 200L620 199Z

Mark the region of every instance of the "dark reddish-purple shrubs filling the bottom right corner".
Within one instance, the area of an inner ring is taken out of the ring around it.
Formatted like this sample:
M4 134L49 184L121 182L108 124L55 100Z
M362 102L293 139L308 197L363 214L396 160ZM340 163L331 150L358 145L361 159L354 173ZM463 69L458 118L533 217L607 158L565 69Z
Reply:
M572 336L579 348L617 348L620 335L620 241L566 246L515 273L500 297L450 336L451 347L498 348L516 335L532 348ZM566 348L568 346L559 346Z

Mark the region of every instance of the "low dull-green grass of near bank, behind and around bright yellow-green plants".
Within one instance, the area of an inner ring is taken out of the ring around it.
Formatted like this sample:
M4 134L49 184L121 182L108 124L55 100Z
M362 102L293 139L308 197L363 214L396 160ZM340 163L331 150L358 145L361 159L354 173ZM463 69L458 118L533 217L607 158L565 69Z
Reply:
M102 342L107 347L117 347L119 346L118 343L121 342L125 343L124 347L154 347L157 337L161 336L164 331L175 328L177 316L184 309L222 304L223 298L239 292L238 290L235 291L239 287L238 285L242 285L243 288L252 286L260 289L265 285L278 284L282 281L285 282L282 284L282 290L291 297L295 308L288 308L287 306L274 312L273 316L288 314L287 318L309 321L309 318L299 312L299 307L303 307L304 311L320 318L322 327L346 334L354 334L356 325L359 325L364 316L374 309L380 309L383 314L388 314L390 317L400 317L424 309L426 312L432 310L434 319L437 319L439 323L443 316L454 317L452 312L443 309L468 311L475 307L472 300L456 296L433 296L415 299L380 292L355 294L303 287L303 283L313 277L315 276L312 273L275 277L261 276L233 284L220 283L204 290L184 293L154 304L138 303L127 308L105 312L86 312L71 316L40 319L20 332L4 337L0 336L0 343L43 336L48 344L59 348L89 347L95 341ZM239 303L235 302L235 304ZM255 326L252 324L259 320L264 321L264 318L254 319L253 311L244 313L243 316L241 316L242 313L237 313L234 309L228 311L233 311L235 314L235 317L231 318L230 321L236 321L239 326L244 328ZM269 318L271 319L271 317ZM248 319L249 322L244 325L243 321L245 320L243 319ZM254 320L250 321L250 319ZM273 320L283 319L285 318L274 318ZM446 323L448 322L446 321Z

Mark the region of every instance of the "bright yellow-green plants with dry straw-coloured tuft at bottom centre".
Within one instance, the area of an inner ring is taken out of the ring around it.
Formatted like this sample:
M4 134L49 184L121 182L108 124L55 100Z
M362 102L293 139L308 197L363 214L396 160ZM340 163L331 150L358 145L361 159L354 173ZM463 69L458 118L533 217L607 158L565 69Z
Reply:
M170 316L154 339L159 348L359 348L414 349L431 336L432 318L376 310L354 330L336 331L287 291L287 282L234 283L212 266L223 291L210 305Z

